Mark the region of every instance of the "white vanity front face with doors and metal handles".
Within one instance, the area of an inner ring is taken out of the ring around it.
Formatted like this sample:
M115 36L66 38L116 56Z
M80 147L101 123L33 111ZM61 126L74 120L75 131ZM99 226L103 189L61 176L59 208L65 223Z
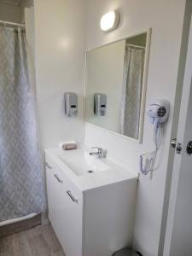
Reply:
M49 220L67 256L83 256L83 195L46 156Z

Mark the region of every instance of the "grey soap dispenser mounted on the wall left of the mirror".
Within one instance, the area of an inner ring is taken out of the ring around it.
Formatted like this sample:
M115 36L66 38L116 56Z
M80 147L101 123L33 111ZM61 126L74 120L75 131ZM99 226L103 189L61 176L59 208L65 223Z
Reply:
M66 92L64 95L65 114L73 117L78 114L78 95L74 92Z

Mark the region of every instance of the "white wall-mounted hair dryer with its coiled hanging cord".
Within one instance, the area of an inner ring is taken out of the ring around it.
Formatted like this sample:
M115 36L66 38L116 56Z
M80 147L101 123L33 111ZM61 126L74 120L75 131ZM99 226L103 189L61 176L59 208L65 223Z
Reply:
M157 152L160 148L161 127L169 116L170 104L166 100L154 100L148 106L149 121L154 125L154 151L140 155L140 172L147 175L154 170Z

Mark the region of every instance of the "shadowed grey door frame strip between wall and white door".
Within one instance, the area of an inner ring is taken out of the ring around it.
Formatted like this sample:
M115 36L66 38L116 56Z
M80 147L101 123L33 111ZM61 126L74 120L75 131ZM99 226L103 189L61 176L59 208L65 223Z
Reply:
M183 91L183 79L185 73L185 64L187 59L188 45L189 45L189 31L191 27L192 20L192 3L191 1L186 1L185 14L183 20L183 36L181 42L180 49L180 57L179 57L179 66L177 73L177 90L175 96L175 103L173 109L173 119L172 119L172 138L177 137L177 126L179 119L179 112L181 107L181 98ZM167 172L166 172L166 189L164 195L164 203L163 203L163 212L161 218L161 226L160 226L160 243L158 255L162 256L165 247L165 239L166 239L166 225L170 204L170 194L172 189L172 178L174 177L173 173L173 162L174 162L175 152L173 148L170 146L169 148L169 159L167 164Z

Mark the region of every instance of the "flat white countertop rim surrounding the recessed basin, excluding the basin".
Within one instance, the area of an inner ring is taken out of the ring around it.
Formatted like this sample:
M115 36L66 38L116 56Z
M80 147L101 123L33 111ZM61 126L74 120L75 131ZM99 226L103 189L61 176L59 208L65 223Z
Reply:
M93 172L86 173L84 175L76 175L67 164L61 160L59 156L63 156L67 158L74 157L74 161L77 161L76 155L80 152L82 154L82 150L89 154L91 151L90 148L86 148L82 146L78 149L73 150L62 150L61 148L49 148L45 149L45 155L47 154L51 160L55 161L55 164L61 168L67 177L82 191L96 189L102 186L106 186L108 184L115 183L123 183L129 182L131 180L137 180L138 176L131 172L126 166L122 166L119 163L116 163L112 160L108 160L108 158L101 159L103 164L109 166L108 170L102 172ZM91 156L95 157L95 156Z

